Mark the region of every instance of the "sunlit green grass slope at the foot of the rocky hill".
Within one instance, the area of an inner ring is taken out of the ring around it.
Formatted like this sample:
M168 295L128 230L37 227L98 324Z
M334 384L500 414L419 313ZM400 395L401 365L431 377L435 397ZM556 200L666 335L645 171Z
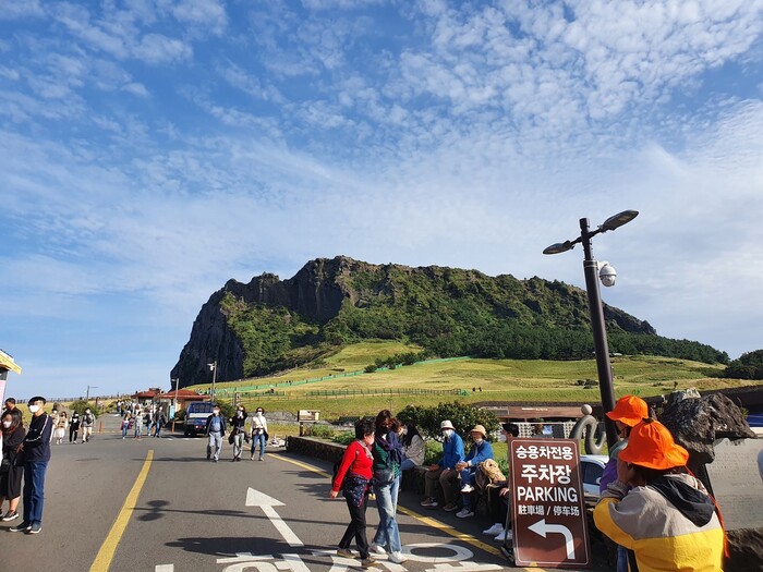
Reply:
M544 360L459 360L452 362L426 362L393 370L379 370L353 377L343 376L362 370L376 358L396 353L417 351L419 348L399 342L364 342L342 349L315 367L294 369L269 378L239 380L218 384L218 389L244 386L274 386L286 395L244 397L247 409L262 405L266 410L300 409L319 410L322 418L342 415L376 413L388 407L399 411L408 404L435 405L455 399L465 402L480 401L559 401L569 403L596 403L600 401L598 385L584 389L585 379L597 379L594 360L552 362ZM613 357L616 395L628 393L640 397L668 393L677 389L695 387L715 389L755 385L754 381L724 379L719 376L723 365L708 365L685 360L655 356ZM325 378L303 385L281 385L287 380ZM472 389L482 388L473 392ZM207 390L209 385L192 386L190 389ZM465 390L468 394L391 394L391 395L342 395L311 397L311 391L343 390ZM232 397L232 395L231 395Z

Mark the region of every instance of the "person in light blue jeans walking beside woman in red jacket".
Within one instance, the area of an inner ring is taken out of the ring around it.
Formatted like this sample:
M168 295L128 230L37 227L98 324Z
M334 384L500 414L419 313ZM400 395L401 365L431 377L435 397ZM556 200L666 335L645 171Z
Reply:
M387 553L389 560L399 564L405 558L402 556L400 531L396 512L398 509L398 492L400 491L400 463L402 447L398 440L395 421L389 410L383 410L376 416L374 446L371 452L374 457L374 494L376 509L379 512L379 525L370 546L371 552ZM387 547L385 550L384 547Z

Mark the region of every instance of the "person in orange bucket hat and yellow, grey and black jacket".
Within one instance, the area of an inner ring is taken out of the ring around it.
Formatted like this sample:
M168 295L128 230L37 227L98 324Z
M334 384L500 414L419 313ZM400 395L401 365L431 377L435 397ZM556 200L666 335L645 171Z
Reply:
M607 486L593 519L602 533L632 550L631 570L723 571L723 526L704 486L688 473L688 459L667 427L651 418L631 429L619 452L617 480Z

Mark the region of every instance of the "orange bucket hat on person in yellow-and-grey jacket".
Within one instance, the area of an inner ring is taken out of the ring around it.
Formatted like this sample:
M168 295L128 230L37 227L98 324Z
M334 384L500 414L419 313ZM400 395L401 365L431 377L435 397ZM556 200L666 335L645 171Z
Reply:
M676 443L665 425L647 418L631 429L628 447L620 450L619 459L662 471L686 465L689 451Z

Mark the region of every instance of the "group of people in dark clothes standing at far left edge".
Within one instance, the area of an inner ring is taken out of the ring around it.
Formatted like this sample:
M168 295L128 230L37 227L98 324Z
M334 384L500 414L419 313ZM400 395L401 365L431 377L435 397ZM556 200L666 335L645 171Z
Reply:
M53 417L45 410L45 398L34 397L27 402L32 419L24 426L24 415L16 400L5 400L0 415L2 437L2 463L0 464L0 514L5 501L8 511L2 521L19 519L19 502L24 482L24 513L22 522L11 532L38 534L43 530L43 503L45 500L45 473L50 461L50 442L53 429L58 430ZM58 437L57 437L58 439ZM61 437L62 439L62 437Z

